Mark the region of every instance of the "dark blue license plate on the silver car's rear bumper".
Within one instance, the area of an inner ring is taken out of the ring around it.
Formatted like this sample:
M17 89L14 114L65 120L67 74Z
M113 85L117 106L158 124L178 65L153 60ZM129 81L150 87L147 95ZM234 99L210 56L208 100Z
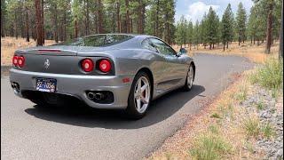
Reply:
M36 78L36 90L41 92L55 92L56 79L51 78Z

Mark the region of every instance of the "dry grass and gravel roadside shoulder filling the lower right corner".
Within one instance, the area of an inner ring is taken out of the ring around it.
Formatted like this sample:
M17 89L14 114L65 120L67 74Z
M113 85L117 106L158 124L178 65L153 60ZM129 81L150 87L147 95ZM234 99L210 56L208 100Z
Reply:
M236 81L146 159L283 158L283 90Z

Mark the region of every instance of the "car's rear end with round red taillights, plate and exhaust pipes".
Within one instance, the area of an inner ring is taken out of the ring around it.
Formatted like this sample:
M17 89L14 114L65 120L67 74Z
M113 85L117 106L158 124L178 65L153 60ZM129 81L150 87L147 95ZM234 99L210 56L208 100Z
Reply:
M10 80L15 94L57 104L65 97L93 108L126 108L130 84L115 75L111 54L82 46L17 51Z

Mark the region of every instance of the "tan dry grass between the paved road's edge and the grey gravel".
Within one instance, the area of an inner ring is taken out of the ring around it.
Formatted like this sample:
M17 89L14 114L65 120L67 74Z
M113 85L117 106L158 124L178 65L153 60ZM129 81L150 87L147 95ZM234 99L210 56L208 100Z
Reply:
M263 156L262 152L254 153L255 139L248 139L248 134L244 125L244 117L248 113L244 108L240 108L240 101L235 99L235 92L240 92L240 87L247 86L248 94L252 93L253 88L248 85L247 73L244 73L234 84L222 92L216 100L213 101L198 116L194 116L185 124L182 130L179 130L162 145L162 148L156 150L147 159L199 159L200 155L192 150L199 149L206 153L206 157L217 157L217 159L259 159ZM245 76L244 76L245 75ZM256 113L250 113L252 116ZM212 115L218 115L212 116ZM213 152L210 154L200 144L203 141L200 135L208 137L210 135L222 139L222 143L230 147L229 151ZM193 154L195 153L195 154ZM203 155L204 156L204 155Z

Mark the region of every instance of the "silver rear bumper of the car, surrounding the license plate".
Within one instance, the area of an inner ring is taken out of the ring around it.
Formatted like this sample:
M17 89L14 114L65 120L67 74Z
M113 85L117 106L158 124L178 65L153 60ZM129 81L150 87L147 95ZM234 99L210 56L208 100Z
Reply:
M78 76L22 71L10 69L10 81L20 84L20 92L16 95L23 98L21 91L36 91L36 77L57 79L57 93L66 94L83 100L92 108L126 108L130 85L133 76ZM129 77L130 82L122 83L122 78ZM109 91L114 93L114 102L110 104L96 103L90 100L86 91Z

